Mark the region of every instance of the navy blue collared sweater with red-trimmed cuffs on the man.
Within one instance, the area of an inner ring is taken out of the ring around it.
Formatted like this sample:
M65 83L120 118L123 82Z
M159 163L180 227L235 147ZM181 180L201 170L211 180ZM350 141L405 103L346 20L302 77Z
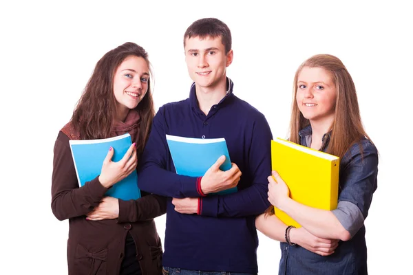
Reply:
M271 129L262 113L234 96L209 111L198 107L195 85L189 98L162 106L153 119L145 151L139 159L138 186L168 198L163 265L186 270L257 273L258 237L255 216L270 206ZM238 191L229 195L198 192L196 177L177 175L166 134L224 137L231 162L242 172ZM171 198L202 197L200 214L180 214Z

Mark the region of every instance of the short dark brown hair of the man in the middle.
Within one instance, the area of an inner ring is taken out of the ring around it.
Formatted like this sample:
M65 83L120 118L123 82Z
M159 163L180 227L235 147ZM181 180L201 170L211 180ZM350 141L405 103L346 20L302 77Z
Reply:
M204 18L193 22L184 34L184 47L185 39L199 36L200 39L205 39L208 36L216 38L221 36L222 45L225 47L225 54L231 50L232 37L231 31L228 26L216 18Z

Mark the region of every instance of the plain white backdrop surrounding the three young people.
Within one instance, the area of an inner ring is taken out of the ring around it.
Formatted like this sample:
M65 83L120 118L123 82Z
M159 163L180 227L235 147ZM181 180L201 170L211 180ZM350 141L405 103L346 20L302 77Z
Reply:
M2 2L0 273L67 274L67 221L50 208L53 146L98 59L127 41L145 47L158 110L189 94L182 36L202 17L231 28L234 93L266 115L275 137L287 133L299 64L313 54L341 58L380 153L366 220L370 274L409 273L412 9L399 1L273 2ZM165 215L156 223L163 241ZM260 274L277 274L277 241L260 234L257 255Z

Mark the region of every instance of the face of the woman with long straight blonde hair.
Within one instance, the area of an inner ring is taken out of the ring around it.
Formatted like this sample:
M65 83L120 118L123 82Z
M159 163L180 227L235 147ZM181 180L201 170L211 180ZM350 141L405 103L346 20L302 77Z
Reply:
M297 78L297 106L310 123L329 128L334 121L336 85L330 72L321 67L303 67Z

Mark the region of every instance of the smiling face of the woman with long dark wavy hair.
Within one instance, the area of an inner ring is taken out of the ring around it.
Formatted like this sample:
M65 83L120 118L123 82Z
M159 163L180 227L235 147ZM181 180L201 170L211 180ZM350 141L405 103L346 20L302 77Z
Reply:
M128 56L114 74L114 95L118 120L123 121L130 109L138 106L148 90L149 67L144 58Z

